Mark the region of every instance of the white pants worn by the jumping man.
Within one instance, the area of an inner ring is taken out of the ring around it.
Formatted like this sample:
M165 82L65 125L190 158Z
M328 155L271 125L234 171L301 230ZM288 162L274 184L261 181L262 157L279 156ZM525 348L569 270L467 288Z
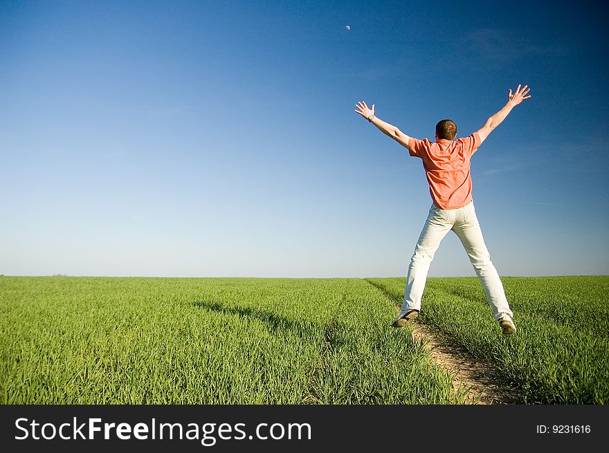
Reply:
M410 266L408 266L402 310L421 310L421 297L423 297L429 266L440 242L450 230L453 230L461 239L476 275L482 282L484 293L487 293L495 319L500 320L504 313L513 317L505 297L503 284L491 262L489 250L484 245L473 202L454 210L441 210L439 207L431 205L429 216L415 247L415 255L412 255Z

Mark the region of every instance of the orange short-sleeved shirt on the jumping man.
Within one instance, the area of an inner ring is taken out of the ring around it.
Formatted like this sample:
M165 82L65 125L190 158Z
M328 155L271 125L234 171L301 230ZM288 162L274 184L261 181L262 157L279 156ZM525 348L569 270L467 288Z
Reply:
M420 157L429 183L433 203L443 210L457 209L471 202L469 160L480 146L480 136L473 133L457 140L437 142L410 137L410 156Z

